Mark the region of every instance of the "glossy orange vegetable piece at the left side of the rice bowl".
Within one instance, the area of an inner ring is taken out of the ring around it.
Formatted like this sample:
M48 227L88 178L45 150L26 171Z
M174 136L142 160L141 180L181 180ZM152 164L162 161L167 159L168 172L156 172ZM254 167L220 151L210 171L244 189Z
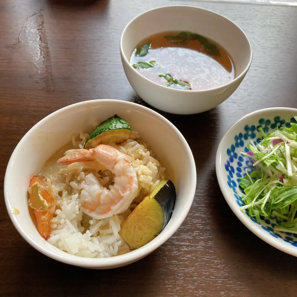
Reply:
M38 183L40 185L39 195L46 201L45 204L47 209L44 211L34 209L34 213L37 220L39 234L47 240L50 236L50 224L56 210L57 197L46 188L45 181L46 179L44 176L35 175L30 181L30 187L32 187L35 183Z

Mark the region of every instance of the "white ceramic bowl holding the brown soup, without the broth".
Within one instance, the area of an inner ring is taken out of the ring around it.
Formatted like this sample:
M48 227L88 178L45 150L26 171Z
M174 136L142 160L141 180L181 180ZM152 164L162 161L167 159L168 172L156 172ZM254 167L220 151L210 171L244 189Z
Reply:
M136 45L145 37L165 31L190 31L222 45L233 58L235 79L204 91L176 90L156 84L129 63ZM210 110L236 90L252 62L252 48L243 31L222 15L198 7L164 6L132 19L123 31L120 51L124 71L135 92L150 105L174 114L195 114Z

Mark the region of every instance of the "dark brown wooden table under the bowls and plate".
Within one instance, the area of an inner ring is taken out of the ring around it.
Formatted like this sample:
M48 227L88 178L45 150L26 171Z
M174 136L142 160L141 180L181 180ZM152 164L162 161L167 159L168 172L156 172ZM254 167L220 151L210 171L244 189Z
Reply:
M217 183L215 153L223 133L244 114L297 107L297 8L191 0L80 2L0 2L0 295L296 296L297 259L235 217ZM254 54L242 84L217 108L191 116L161 112L183 133L196 161L197 191L186 220L155 252L127 267L80 269L43 256L17 233L6 212L3 181L13 149L39 120L75 102L112 98L147 105L125 77L119 38L139 13L176 4L230 18L247 34Z

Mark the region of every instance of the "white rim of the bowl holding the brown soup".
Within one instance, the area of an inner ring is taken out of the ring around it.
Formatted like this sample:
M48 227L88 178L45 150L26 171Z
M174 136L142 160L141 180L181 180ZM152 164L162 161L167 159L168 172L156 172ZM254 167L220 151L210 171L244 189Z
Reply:
M200 93L200 92L210 92L210 91L213 91L213 90L220 90L221 88L228 88L229 86L231 86L232 84L236 83L237 81L240 81L243 76L248 72L248 69L250 68L251 64L252 64L252 58L253 58L253 51L252 51L252 46L251 46L251 43L250 41L248 40L248 37L246 36L246 34L243 32L243 30L238 26L236 25L233 21L231 21L230 19L226 18L225 16L219 14L219 13L216 13L214 11L211 11L209 9L205 9L205 8L200 8L200 7L196 7L196 6L189 6L189 5L169 5L169 6L160 6L160 7L156 7L156 8L153 8L153 9L150 9L150 10L147 10L147 11L144 11L142 12L141 14L137 15L135 18L131 19L131 21L125 26L123 32L122 32L122 35L121 35L121 38L120 38L120 53L121 53L121 56L122 58L124 59L125 63L128 64L128 67L130 69L133 69L133 71L135 73L137 73L137 75L139 75L141 78L143 78L144 80L146 80L147 82L150 82L152 83L153 85L155 86L158 86L158 87L161 87L161 88L164 88L164 89L168 89L172 92L188 92L187 90L179 90L179 89L173 89L173 88L168 88L166 86L162 86L160 84L157 84L155 82L153 82L152 80L149 80L148 78L146 78L145 76L143 76L142 74L140 74L140 72L136 71L136 69L134 69L134 67L131 66L130 62L128 61L126 55L124 54L124 50L123 50L123 36L124 36L124 33L127 31L128 27L136 20L136 19L139 19L141 18L143 15L147 14L147 13L150 13L152 11L155 11L155 10L159 10L159 9L168 9L168 8L171 8L171 7L179 7L179 8L191 8L191 9L195 9L195 10L200 10L200 11L208 11L214 15L217 15L219 17L222 17L224 19L226 19L227 21L229 21L230 23L232 23L235 27L237 27L239 29L239 31L241 31L241 33L243 34L243 36L245 37L245 39L247 40L248 42L248 45L249 45L249 50L250 50L250 58L249 58L249 61L248 61L248 64L247 66L245 67L245 69L234 79L234 80L231 80L229 83L227 84L224 84L222 86L219 86L219 87L216 87L216 88L211 88L211 89L206 89L206 90L191 90L191 92L193 93Z

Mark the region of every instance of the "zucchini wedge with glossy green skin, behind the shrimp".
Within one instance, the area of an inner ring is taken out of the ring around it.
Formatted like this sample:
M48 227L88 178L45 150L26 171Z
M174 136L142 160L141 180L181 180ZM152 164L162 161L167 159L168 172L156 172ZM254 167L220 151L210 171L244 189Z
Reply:
M108 144L110 142L121 144L130 137L130 134L130 125L115 114L93 130L84 144L84 149L93 149L99 144Z

